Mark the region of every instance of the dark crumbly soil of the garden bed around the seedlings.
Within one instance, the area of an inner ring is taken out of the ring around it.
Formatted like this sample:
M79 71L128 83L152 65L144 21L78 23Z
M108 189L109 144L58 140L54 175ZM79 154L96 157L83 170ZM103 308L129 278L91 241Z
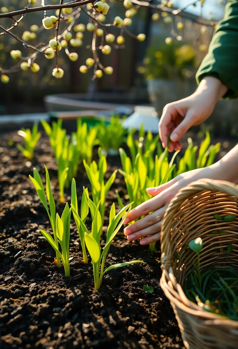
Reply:
M32 162L9 146L10 140L20 137L16 132L0 135L0 348L184 348L159 284L160 251L129 243L120 231L105 267L133 259L146 263L111 270L95 291L92 265L82 261L77 227L71 220L71 276L66 278L63 268L57 269L54 250L39 231L49 230L48 216L28 177L35 166L43 179L46 164L58 199L57 168L48 139L41 137ZM223 142L222 151L230 147ZM108 163L109 176L120 159L109 157ZM81 199L82 186L90 189L83 166L76 182ZM119 175L108 194L107 217L112 202L118 208L115 188L126 193ZM57 203L58 213L63 206ZM154 292L145 293L144 284L153 286Z

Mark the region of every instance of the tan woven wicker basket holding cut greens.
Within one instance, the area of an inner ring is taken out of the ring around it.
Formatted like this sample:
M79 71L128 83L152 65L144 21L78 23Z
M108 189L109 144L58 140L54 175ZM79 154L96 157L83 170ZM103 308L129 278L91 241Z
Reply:
M219 222L214 214L235 214L233 222ZM227 231L213 235L213 230ZM237 349L238 321L222 318L190 302L183 284L197 263L196 253L185 248L201 237L201 268L238 267L238 186L225 181L199 180L178 192L166 210L161 228L160 285L174 309L182 339L190 349ZM233 250L227 255L227 246ZM181 251L182 248L182 251ZM180 261L176 258L179 253Z

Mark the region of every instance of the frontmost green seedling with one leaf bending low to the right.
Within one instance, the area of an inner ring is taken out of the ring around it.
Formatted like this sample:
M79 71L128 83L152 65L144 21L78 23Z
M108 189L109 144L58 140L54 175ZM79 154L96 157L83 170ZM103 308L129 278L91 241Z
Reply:
M88 207L90 209L92 220L93 220L92 230L90 233L73 206L72 206L72 211L73 211L74 217L76 218L77 226L81 226L81 229L84 232L85 243L93 263L94 288L95 290L98 290L102 285L103 275L107 273L109 270L114 268L125 267L127 265L134 264L134 263L144 263L144 262L140 260L135 260L135 261L130 261L126 263L117 263L117 264L111 265L110 267L104 270L104 264L105 264L106 255L108 253L109 247L112 243L113 238L117 235L124 220L126 219L132 204L130 203L129 205L125 206L116 215L115 205L113 203L110 210L109 226L106 234L106 243L103 248L103 251L101 251L101 245L100 245L101 234L100 233L102 230L102 217L99 211L100 202L98 202L96 206L93 203L93 201L88 198L87 203L88 203Z

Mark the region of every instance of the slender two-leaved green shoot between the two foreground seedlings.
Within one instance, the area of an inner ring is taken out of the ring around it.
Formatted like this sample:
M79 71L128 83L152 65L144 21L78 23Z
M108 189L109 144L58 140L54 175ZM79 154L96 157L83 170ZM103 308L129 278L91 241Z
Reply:
M80 224L80 221L77 219L78 217L78 199L77 199L77 192L76 192L76 182L75 179L73 178L72 180L72 187L71 187L71 207L73 208L73 217L74 220L77 224L78 228L78 233L79 233L79 238L81 241L81 246L82 246L82 253L83 253L83 259L85 263L88 263L88 257L86 253L86 247L85 247L85 239L84 239L84 230L82 225ZM82 222L85 224L86 218L88 216L88 188L84 188L83 194L82 194L82 199L81 199L81 210L80 210L80 216ZM74 213L76 212L77 215Z

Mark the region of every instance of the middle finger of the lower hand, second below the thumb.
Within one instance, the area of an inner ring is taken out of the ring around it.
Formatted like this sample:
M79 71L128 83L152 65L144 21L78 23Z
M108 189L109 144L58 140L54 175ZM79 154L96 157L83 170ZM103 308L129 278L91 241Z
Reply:
M159 210L152 212L150 215L141 218L139 221L130 224L128 227L124 229L124 234L130 235L139 230L150 227L151 225L158 223L164 217L164 214L165 208L162 207Z

